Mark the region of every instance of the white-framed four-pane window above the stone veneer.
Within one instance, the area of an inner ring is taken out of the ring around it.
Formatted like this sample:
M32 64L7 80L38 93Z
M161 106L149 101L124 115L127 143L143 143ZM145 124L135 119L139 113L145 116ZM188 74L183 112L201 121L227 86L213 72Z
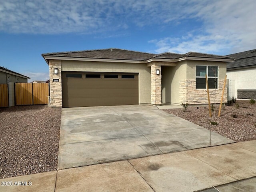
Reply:
M218 88L218 66L196 66L196 89L206 89L205 75L208 77L209 89ZM215 78L216 76L216 78ZM216 80L216 81L215 81Z

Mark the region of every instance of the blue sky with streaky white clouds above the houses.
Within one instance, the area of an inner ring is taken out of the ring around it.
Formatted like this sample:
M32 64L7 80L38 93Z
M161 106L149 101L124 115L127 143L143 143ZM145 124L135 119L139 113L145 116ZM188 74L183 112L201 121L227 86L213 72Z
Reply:
M256 48L255 0L0 0L0 66L47 80L42 53Z

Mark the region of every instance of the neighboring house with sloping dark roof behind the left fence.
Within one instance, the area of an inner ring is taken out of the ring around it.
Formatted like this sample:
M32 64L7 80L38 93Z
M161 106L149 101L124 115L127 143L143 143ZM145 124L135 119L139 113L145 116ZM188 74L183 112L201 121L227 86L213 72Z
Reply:
M5 84L9 82L27 83L28 79L30 78L27 76L8 70L7 68L4 68L4 67L0 67L0 84Z

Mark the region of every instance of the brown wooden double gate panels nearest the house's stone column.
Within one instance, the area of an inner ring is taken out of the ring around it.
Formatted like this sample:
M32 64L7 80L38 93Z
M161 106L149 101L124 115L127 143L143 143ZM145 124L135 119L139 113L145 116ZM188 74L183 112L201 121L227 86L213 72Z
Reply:
M15 105L48 104L48 83L15 83Z

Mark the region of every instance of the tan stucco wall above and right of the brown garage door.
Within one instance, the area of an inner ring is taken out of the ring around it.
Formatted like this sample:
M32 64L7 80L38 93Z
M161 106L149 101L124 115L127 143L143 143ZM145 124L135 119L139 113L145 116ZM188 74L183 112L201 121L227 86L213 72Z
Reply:
M139 103L151 102L151 72L146 64L62 60L62 71L139 73Z

